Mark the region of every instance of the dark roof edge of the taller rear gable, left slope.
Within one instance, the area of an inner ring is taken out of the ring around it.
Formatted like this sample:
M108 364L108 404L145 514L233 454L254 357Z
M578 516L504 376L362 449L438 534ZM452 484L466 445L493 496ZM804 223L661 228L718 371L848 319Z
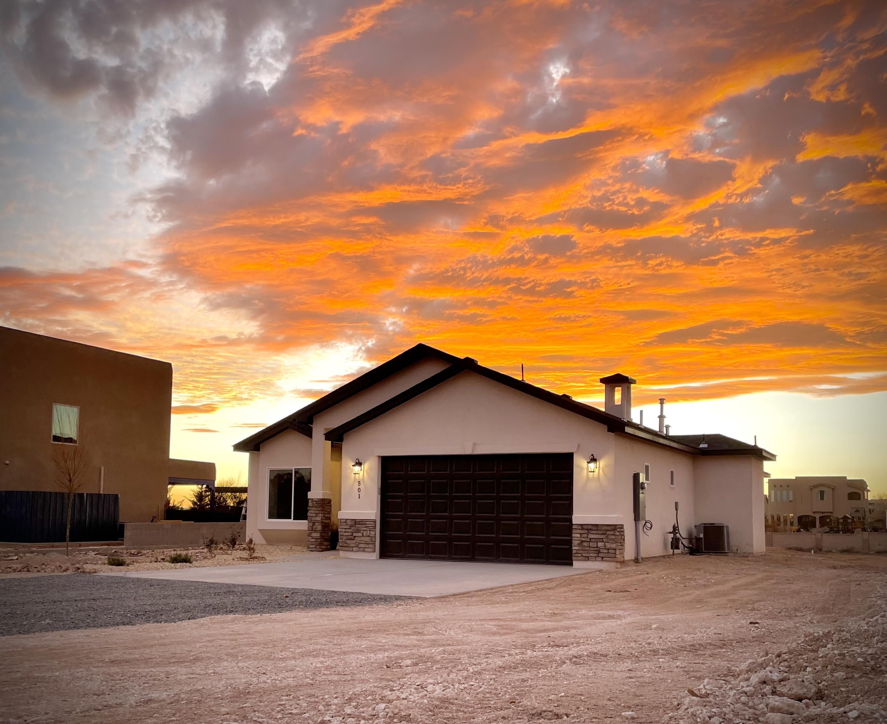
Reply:
M341 387L336 388L323 397L319 397L314 400L314 402L310 403L310 405L305 405L302 409L296 410L291 415L287 415L283 420L274 422L267 428L260 429L253 435L240 440L239 443L233 446L234 450L238 453L248 453L250 451L258 450L259 446L270 440L271 437L276 437L287 429L293 429L296 432L301 432L302 435L311 437L311 424L314 422L314 416L316 414L322 413L324 410L327 410L334 405L338 405L349 397L357 395L358 392L363 392L364 390L373 387L374 384L382 382L383 380L388 379L391 375L397 374L401 370L419 362L421 359L428 357L442 359L444 362L450 363L459 362L458 357L447 354L441 350L436 350L434 347L429 347L428 344L416 344L409 350L401 352L396 357L390 358L387 362L383 362L380 366L373 367L369 372L361 374L359 377L355 377L350 382L346 382Z

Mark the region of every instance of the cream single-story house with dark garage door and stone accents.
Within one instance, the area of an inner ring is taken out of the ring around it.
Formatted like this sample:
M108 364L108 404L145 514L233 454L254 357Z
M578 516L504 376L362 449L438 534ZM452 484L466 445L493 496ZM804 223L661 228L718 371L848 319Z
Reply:
M636 553L632 478L646 481L640 553L667 555L676 520L729 525L765 550L757 445L632 421L635 383L602 378L605 409L425 344L234 449L249 453L247 535L342 556L611 568Z

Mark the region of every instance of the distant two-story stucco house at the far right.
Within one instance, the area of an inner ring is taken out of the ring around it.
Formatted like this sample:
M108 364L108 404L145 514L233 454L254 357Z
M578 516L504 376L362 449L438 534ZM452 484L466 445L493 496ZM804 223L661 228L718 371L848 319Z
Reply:
M867 525L868 484L846 476L773 477L765 523L773 530L851 529Z

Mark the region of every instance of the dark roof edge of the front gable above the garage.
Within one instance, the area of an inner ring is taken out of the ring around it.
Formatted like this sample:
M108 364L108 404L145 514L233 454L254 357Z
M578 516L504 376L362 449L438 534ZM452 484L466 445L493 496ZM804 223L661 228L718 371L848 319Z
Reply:
M459 362L454 363L441 372L433 374L431 377L428 377L428 379L413 385L408 390L404 390L398 395L391 397L390 399L381 403L381 405L376 405L372 409L367 410L365 413L361 413L351 420L343 422L338 427L329 430L324 437L326 437L326 440L330 442L341 443L344 439L344 436L351 430L357 429L360 426L365 425L367 422L375 420L377 417L388 413L399 405L403 405L404 402L408 402L414 397L419 397L424 392L428 392L428 390L434 389L442 382L446 382L447 380L455 377L457 374L461 374L463 372L480 374L481 376L486 377L488 380L503 384L506 387L511 388L512 390L517 390L526 395L530 395L530 397L536 397L543 402L547 402L550 405L560 407L562 410L576 413L588 420L600 422L600 424L607 426L608 432L621 433L624 435L629 435L631 437L637 437L646 440L647 442L655 443L656 445L664 445L666 447L677 449L683 453L691 453L695 455L751 454L764 460L776 459L773 453L768 453L763 448L759 448L754 445L748 445L747 443L742 443L739 440L734 440L732 437L726 437L724 435L706 435L706 442L709 442L710 439L714 439L716 440L716 443L710 443L709 448L699 449L698 442L696 445L690 445L687 443L686 440L679 438L698 437L701 441L703 437L702 435L663 435L662 433L656 432L655 430L641 427L635 422L623 420L620 417L616 417L616 415L605 413L599 408L593 407L593 405L585 405L585 403L578 402L572 397L569 397L569 395L558 395L550 390L532 385L529 382L523 382L522 380L517 380L507 374L497 372L490 367L479 365L477 364L477 361L475 359L472 359L470 357L459 360Z

